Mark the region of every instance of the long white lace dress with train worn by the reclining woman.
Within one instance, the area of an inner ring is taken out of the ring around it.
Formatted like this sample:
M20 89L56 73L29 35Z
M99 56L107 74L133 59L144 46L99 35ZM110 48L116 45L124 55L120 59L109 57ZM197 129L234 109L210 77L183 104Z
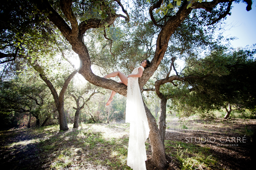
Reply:
M140 67L144 71L144 67ZM135 68L131 74L138 73L139 67ZM125 122L130 123L127 165L134 170L146 170L145 141L149 135L149 127L138 77L128 78Z

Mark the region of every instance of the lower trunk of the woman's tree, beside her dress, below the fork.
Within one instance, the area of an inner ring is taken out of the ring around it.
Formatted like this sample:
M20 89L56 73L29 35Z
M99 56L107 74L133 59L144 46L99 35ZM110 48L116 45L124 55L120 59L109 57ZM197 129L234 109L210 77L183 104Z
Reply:
M151 114L148 107L144 103L146 115L148 118L148 125L150 128L149 139L152 150L152 157L150 162L155 165L157 169L163 169L166 166L165 149L162 143L161 133L157 128L156 119Z

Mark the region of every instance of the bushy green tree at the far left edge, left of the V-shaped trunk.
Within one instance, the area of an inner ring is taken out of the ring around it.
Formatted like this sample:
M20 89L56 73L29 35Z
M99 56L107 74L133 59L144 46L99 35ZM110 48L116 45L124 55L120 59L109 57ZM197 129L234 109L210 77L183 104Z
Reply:
M34 83L30 84L31 81ZM1 81L0 83L1 113L15 112L29 115L28 128L30 128L31 116L34 116L36 126L40 126L40 118L48 116L48 112L52 108L46 86L36 77L22 74L13 80Z

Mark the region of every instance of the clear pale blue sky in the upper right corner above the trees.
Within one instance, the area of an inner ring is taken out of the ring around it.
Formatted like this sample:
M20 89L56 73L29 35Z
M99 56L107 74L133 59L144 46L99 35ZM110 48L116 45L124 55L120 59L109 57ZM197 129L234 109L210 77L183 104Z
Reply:
M253 2L252 9L246 10L247 4L232 4L231 15L227 16L225 22L234 25L226 30L224 37L237 37L238 39L231 41L234 48L256 44L256 2Z

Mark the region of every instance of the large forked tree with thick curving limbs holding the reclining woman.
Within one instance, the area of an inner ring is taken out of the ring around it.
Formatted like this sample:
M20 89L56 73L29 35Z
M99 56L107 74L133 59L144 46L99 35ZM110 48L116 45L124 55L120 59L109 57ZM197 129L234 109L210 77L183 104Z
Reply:
M109 27L110 25L112 25L115 19L118 17L125 18L127 21L129 21L129 15L119 0L110 2L89 1L86 3L84 3L84 1L72 2L71 0L63 0L60 2L57 1L57 3L54 1L50 1L52 5L48 1L34 0L33 2L36 5L36 8L40 10L40 12L42 11L42 13L47 16L48 19L55 26L58 27L63 36L71 44L72 49L79 55L81 61L81 68L79 69L79 73L83 75L86 80L96 86L115 90L119 94L126 95L125 85L119 84L113 80L101 78L92 73L90 55L82 39L84 33L88 29L104 29L104 27ZM116 4L114 2L116 2L118 6L122 8L122 11L126 14L126 16L116 14ZM226 17L227 14L229 14L232 2L238 1L213 0L211 2L202 3L200 3L199 1L195 3L189 3L189 6L187 4L187 1L183 1L181 5L181 1L177 2L179 2L179 10L177 12L174 12L174 10L169 10L170 12L165 11L164 16L157 16L158 14L153 14L153 10L161 7L163 3L162 0L154 2L152 4L147 4L152 5L149 7L149 15L152 23L156 27L160 28L160 33L158 34L156 39L156 48L154 52L154 57L151 61L151 65L148 69L144 71L143 76L139 79L139 85L141 88L153 75L153 73L158 68L158 65L164 58L171 35L190 15L192 10L200 9L202 11L202 14L205 15L205 18L207 18L208 24L214 25L222 18ZM143 4L142 2L139 3ZM221 7L215 8L218 4L221 4ZM247 4L247 10L250 10L251 1L247 1ZM81 8L77 10L79 7ZM211 14L207 14L205 11L211 12ZM58 12L60 12L60 14ZM204 23L206 22L201 22L201 24ZM152 146L151 161L157 168L163 168L166 165L166 160L164 146L161 143L160 132L156 126L156 120L154 116L152 116L146 105L145 109L151 131L149 135Z

